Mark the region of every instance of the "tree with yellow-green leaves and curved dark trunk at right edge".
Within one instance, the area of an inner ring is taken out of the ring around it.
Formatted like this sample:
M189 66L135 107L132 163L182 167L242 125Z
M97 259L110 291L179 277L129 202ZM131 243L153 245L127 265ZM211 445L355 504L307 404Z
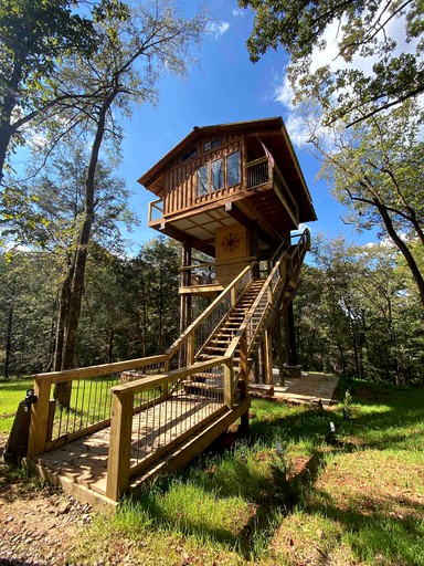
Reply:
M317 129L311 144L324 160L321 176L352 212L349 221L359 229L378 227L393 241L424 306L424 275L411 245L424 247L422 124L423 112L406 101L390 117L373 116L349 133L333 129L330 145L329 129Z

